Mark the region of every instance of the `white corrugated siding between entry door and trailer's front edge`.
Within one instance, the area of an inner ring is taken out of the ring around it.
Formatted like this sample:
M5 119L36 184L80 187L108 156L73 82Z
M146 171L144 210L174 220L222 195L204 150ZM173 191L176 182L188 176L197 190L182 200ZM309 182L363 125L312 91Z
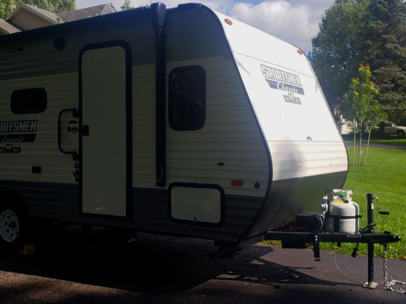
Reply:
M224 58L168 63L172 68L198 64L207 73L206 124L198 131L174 131L167 124L167 184L217 183L226 193L264 195L268 161L258 127L235 68ZM133 186L155 186L154 65L133 69ZM225 71L225 74L222 72ZM234 71L234 74L231 73ZM166 111L167 112L167 111ZM168 119L166 119L168 121ZM225 166L217 163L224 162ZM236 190L231 179L244 179ZM258 191L255 182L263 185Z

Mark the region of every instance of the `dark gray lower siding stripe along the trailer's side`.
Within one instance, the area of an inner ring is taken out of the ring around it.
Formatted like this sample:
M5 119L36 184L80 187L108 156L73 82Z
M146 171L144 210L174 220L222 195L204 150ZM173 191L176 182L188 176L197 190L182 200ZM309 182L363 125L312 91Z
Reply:
M29 214L36 217L129 227L158 234L181 235L224 242L236 242L252 224L261 198L226 195L225 221L220 227L175 223L170 219L165 189L132 189L131 220L92 218L80 215L79 185L0 180L0 187L20 194Z

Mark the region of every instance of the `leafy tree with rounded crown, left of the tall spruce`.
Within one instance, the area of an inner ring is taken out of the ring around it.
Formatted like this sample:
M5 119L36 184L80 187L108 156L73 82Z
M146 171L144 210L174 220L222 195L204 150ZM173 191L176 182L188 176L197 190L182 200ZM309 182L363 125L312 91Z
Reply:
M361 36L369 0L336 0L312 39L312 64L331 109L341 104L361 59Z

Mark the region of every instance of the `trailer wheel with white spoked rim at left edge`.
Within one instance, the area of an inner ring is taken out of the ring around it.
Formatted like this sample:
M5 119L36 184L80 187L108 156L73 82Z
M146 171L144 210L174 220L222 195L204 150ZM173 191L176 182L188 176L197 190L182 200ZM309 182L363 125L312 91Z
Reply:
M26 216L19 204L0 204L0 246L8 251L19 250L26 234Z

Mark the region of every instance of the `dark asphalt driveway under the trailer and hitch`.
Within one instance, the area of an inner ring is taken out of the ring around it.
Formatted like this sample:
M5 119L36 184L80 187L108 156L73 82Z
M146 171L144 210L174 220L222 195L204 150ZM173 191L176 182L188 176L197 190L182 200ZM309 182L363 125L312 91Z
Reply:
M0 252L1 303L406 303L384 289L382 258L379 287L366 289L365 256L321 252L315 262L306 249L257 244L211 259L207 240L139 234L121 248L103 235L58 236L35 255ZM388 271L405 281L406 261L389 260Z

